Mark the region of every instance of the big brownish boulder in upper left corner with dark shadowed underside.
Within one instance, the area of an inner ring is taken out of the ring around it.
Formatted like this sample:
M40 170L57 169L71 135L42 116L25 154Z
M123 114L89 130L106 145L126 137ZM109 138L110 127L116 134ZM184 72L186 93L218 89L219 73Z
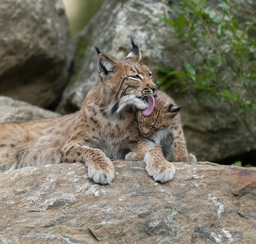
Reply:
M73 60L62 1L5 0L0 5L0 94L53 107Z

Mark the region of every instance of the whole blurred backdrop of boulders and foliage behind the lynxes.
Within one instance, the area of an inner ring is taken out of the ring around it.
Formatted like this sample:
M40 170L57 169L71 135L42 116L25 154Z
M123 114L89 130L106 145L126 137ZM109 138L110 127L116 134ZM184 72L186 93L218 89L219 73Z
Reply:
M199 161L256 165L256 1L0 4L1 122L78 110L98 83L93 46L124 59L134 36L159 89L183 106L188 150Z

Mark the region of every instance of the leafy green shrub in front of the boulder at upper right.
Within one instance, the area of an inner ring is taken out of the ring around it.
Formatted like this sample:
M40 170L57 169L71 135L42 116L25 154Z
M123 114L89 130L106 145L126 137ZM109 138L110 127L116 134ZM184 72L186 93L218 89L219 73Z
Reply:
M202 100L228 102L241 116L249 110L256 112L256 42L247 35L255 23L238 22L235 11L241 2L218 1L217 14L213 14L214 7L207 7L205 0L177 1L179 6L172 7L179 13L176 20L158 16L170 24L179 43L202 60L197 66L184 63L183 71L160 67L163 75L158 83L163 90L170 86L180 92L192 88L199 91Z

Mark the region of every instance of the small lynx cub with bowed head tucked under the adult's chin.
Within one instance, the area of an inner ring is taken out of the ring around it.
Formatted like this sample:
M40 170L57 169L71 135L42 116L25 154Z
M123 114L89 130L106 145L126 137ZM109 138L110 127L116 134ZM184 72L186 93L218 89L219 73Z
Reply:
M156 92L155 108L149 117L138 111L138 127L148 141L161 145L167 159L173 155L176 161L196 161L187 152L179 111L175 101L163 91Z

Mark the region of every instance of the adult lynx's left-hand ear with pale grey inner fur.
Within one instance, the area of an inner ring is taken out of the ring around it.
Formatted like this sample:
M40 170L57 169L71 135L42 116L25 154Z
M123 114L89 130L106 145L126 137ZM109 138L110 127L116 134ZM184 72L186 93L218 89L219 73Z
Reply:
M101 78L108 80L116 71L117 62L103 53L99 53L97 61L97 69Z

